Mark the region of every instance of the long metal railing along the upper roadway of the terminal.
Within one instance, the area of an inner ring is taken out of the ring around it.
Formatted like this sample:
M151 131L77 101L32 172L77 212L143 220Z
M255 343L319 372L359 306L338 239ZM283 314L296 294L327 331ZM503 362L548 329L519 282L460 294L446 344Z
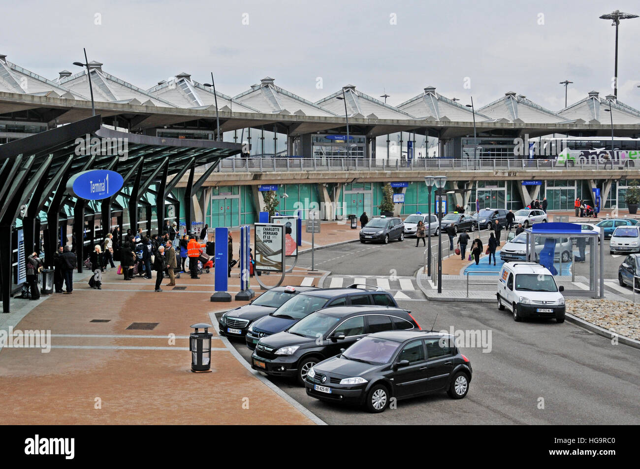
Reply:
M449 158L412 158L411 160L387 160L386 158L226 158L216 172L284 172L284 171L354 171L354 170L540 170L540 169L606 169L637 168L635 160L620 163L597 160L515 160L510 158L454 160ZM198 168L204 171L207 166Z

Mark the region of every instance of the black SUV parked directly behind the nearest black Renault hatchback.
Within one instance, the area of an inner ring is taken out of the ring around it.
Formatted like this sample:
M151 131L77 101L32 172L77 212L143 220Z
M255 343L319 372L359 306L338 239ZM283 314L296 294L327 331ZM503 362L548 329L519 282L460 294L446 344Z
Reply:
M284 332L260 339L252 368L268 375L296 376L304 384L312 366L340 353L367 334L394 329L420 330L406 309L342 306L321 309Z

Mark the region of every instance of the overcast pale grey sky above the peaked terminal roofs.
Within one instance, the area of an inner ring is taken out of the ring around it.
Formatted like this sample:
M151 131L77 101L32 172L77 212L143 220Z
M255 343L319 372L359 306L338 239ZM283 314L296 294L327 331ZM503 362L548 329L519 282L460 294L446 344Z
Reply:
M397 105L433 85L478 108L515 91L559 110L564 79L570 104L613 92L615 28L598 17L616 9L640 15L637 0L22 0L3 4L0 53L56 78L86 47L143 89L212 71L229 95L271 76L310 101L351 83ZM618 95L635 108L639 38L640 18L621 22Z

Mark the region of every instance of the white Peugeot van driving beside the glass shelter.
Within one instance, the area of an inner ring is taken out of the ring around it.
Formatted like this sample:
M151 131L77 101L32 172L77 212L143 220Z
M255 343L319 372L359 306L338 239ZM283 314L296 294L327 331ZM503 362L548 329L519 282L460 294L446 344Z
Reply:
M509 309L513 320L556 318L564 322L564 297L546 267L534 262L506 262L497 285L498 309Z

